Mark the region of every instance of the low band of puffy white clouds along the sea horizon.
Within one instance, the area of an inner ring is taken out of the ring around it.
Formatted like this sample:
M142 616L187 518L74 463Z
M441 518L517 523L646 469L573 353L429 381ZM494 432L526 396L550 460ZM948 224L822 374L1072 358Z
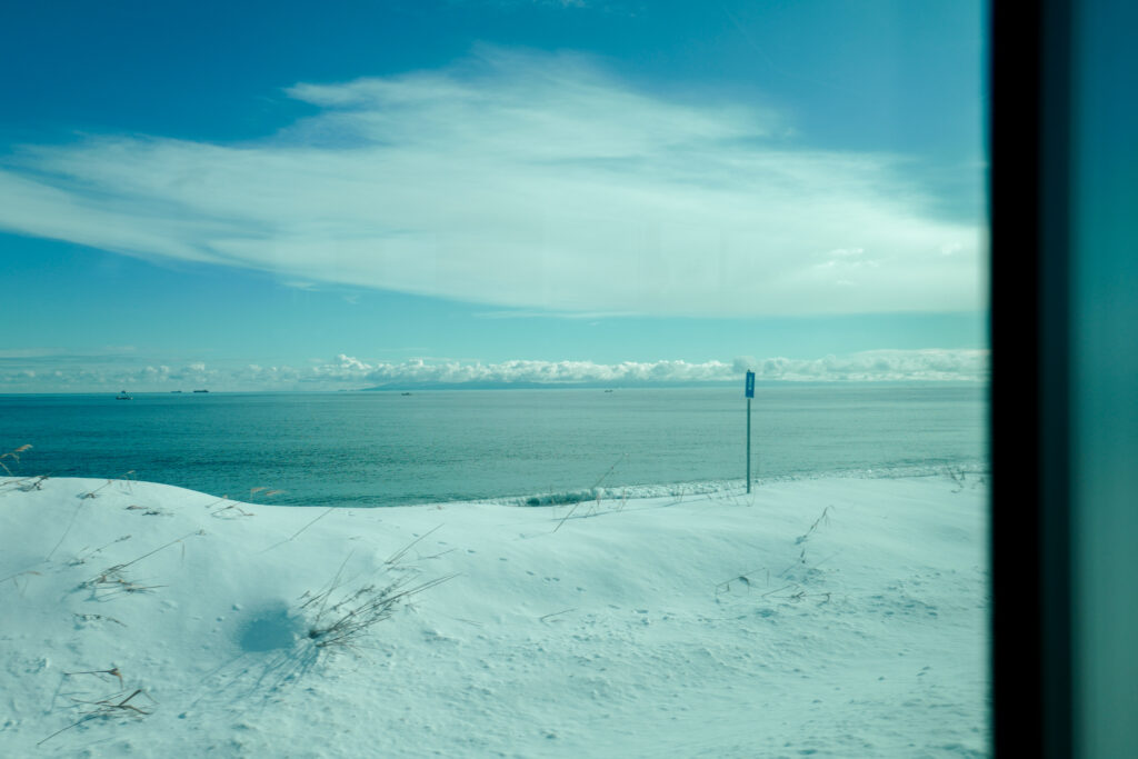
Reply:
M740 381L747 370L760 380L782 381L984 381L988 349L867 350L849 356L801 360L740 356L731 363L708 361L620 362L505 361L478 363L362 361L345 354L310 365L134 365L92 360L66 365L58 356L0 354L0 391L67 391L131 388L138 391L213 388L223 390L333 390L368 387L673 385Z

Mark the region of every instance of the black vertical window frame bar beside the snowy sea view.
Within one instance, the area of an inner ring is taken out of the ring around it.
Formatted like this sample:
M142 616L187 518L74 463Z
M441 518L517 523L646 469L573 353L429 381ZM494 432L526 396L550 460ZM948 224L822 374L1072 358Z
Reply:
M991 640L998 757L1070 757L1070 0L990 0Z

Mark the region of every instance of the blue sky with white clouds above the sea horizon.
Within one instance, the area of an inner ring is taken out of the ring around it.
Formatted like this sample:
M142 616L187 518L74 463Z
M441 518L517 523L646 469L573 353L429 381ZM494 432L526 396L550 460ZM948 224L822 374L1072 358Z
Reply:
M0 391L983 377L983 5L330 6L0 10Z

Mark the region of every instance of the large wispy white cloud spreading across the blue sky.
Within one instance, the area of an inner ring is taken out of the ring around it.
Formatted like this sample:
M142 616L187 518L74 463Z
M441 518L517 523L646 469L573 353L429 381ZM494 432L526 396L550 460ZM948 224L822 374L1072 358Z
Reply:
M0 229L505 310L986 307L979 221L938 217L909 159L805 148L773 112L492 47L288 96L315 115L247 143L24 146Z

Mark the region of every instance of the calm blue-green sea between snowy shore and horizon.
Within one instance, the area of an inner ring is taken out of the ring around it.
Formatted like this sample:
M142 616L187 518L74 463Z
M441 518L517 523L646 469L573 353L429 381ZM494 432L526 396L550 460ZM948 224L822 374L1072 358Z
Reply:
M0 396L19 475L165 482L269 503L386 506L739 487L742 387ZM920 473L987 462L983 385L756 390L752 473ZM887 470L883 472L882 470Z

